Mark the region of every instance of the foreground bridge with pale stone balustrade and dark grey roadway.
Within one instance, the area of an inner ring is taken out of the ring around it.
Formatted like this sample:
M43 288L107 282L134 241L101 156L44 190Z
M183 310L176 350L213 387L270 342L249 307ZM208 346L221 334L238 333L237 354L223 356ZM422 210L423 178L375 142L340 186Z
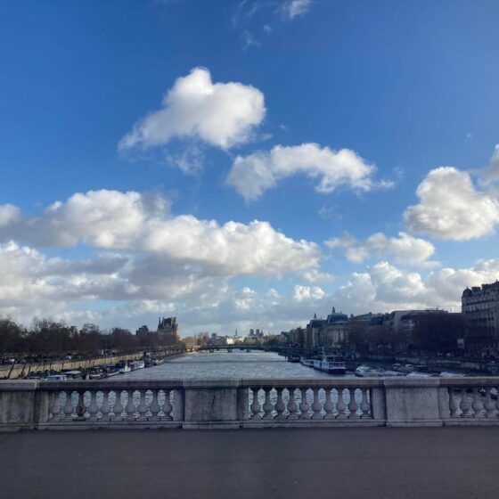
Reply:
M0 496L495 499L498 386L0 381Z

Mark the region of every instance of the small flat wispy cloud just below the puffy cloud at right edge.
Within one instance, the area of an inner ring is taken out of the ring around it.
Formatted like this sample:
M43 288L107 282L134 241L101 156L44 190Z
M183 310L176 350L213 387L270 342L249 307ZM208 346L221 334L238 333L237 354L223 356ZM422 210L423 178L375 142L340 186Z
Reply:
M364 241L357 241L349 233L324 241L331 249L343 249L345 257L353 263L362 263L367 258L395 258L397 262L414 266L437 266L438 262L429 261L435 253L435 246L424 239L415 238L407 233L398 237L387 237L384 233L374 233Z

